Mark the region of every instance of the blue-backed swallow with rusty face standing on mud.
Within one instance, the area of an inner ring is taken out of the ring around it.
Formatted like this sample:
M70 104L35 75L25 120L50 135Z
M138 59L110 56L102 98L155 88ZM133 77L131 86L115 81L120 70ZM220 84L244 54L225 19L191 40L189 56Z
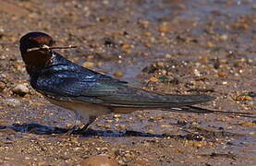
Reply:
M77 65L53 51L55 41L43 32L21 37L19 50L30 75L30 85L45 98L75 112L85 131L96 117L108 113L166 110L222 113L192 105L212 101L206 95L166 95L128 86L128 82ZM78 128L73 128L71 133Z

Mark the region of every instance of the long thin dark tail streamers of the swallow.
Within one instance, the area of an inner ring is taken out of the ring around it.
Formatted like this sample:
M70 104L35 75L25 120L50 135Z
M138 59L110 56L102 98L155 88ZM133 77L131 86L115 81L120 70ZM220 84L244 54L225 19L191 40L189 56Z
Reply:
M163 109L164 111L178 112L178 113L213 113L213 114L230 114L243 117L256 118L256 113L241 113L241 112L224 112L219 110L209 110L196 106L183 106L179 108Z

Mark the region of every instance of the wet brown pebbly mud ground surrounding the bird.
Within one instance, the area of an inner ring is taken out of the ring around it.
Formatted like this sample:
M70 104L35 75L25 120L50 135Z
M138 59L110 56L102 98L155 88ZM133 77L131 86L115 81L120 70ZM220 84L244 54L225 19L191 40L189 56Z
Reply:
M255 1L9 0L0 18L0 165L78 165L97 154L128 166L255 165L255 116L110 114L66 136L74 113L31 89L18 52L20 36L44 31L57 45L77 45L58 52L79 65L143 89L216 98L202 108L255 115Z

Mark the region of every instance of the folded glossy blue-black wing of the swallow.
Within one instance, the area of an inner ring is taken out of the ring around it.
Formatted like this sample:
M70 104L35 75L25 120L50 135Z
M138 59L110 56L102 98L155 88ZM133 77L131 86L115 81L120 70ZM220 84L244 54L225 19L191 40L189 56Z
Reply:
M205 95L164 95L128 87L126 82L91 70L69 65L44 69L31 80L31 85L48 97L102 103L114 107L170 108L213 100Z

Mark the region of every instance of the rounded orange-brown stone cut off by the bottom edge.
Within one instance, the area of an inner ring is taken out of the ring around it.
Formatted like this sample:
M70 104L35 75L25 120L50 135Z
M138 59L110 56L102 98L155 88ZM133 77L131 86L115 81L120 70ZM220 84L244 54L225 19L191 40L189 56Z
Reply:
M98 155L90 156L86 160L81 161L81 166L118 166L116 160L111 159L110 156Z

